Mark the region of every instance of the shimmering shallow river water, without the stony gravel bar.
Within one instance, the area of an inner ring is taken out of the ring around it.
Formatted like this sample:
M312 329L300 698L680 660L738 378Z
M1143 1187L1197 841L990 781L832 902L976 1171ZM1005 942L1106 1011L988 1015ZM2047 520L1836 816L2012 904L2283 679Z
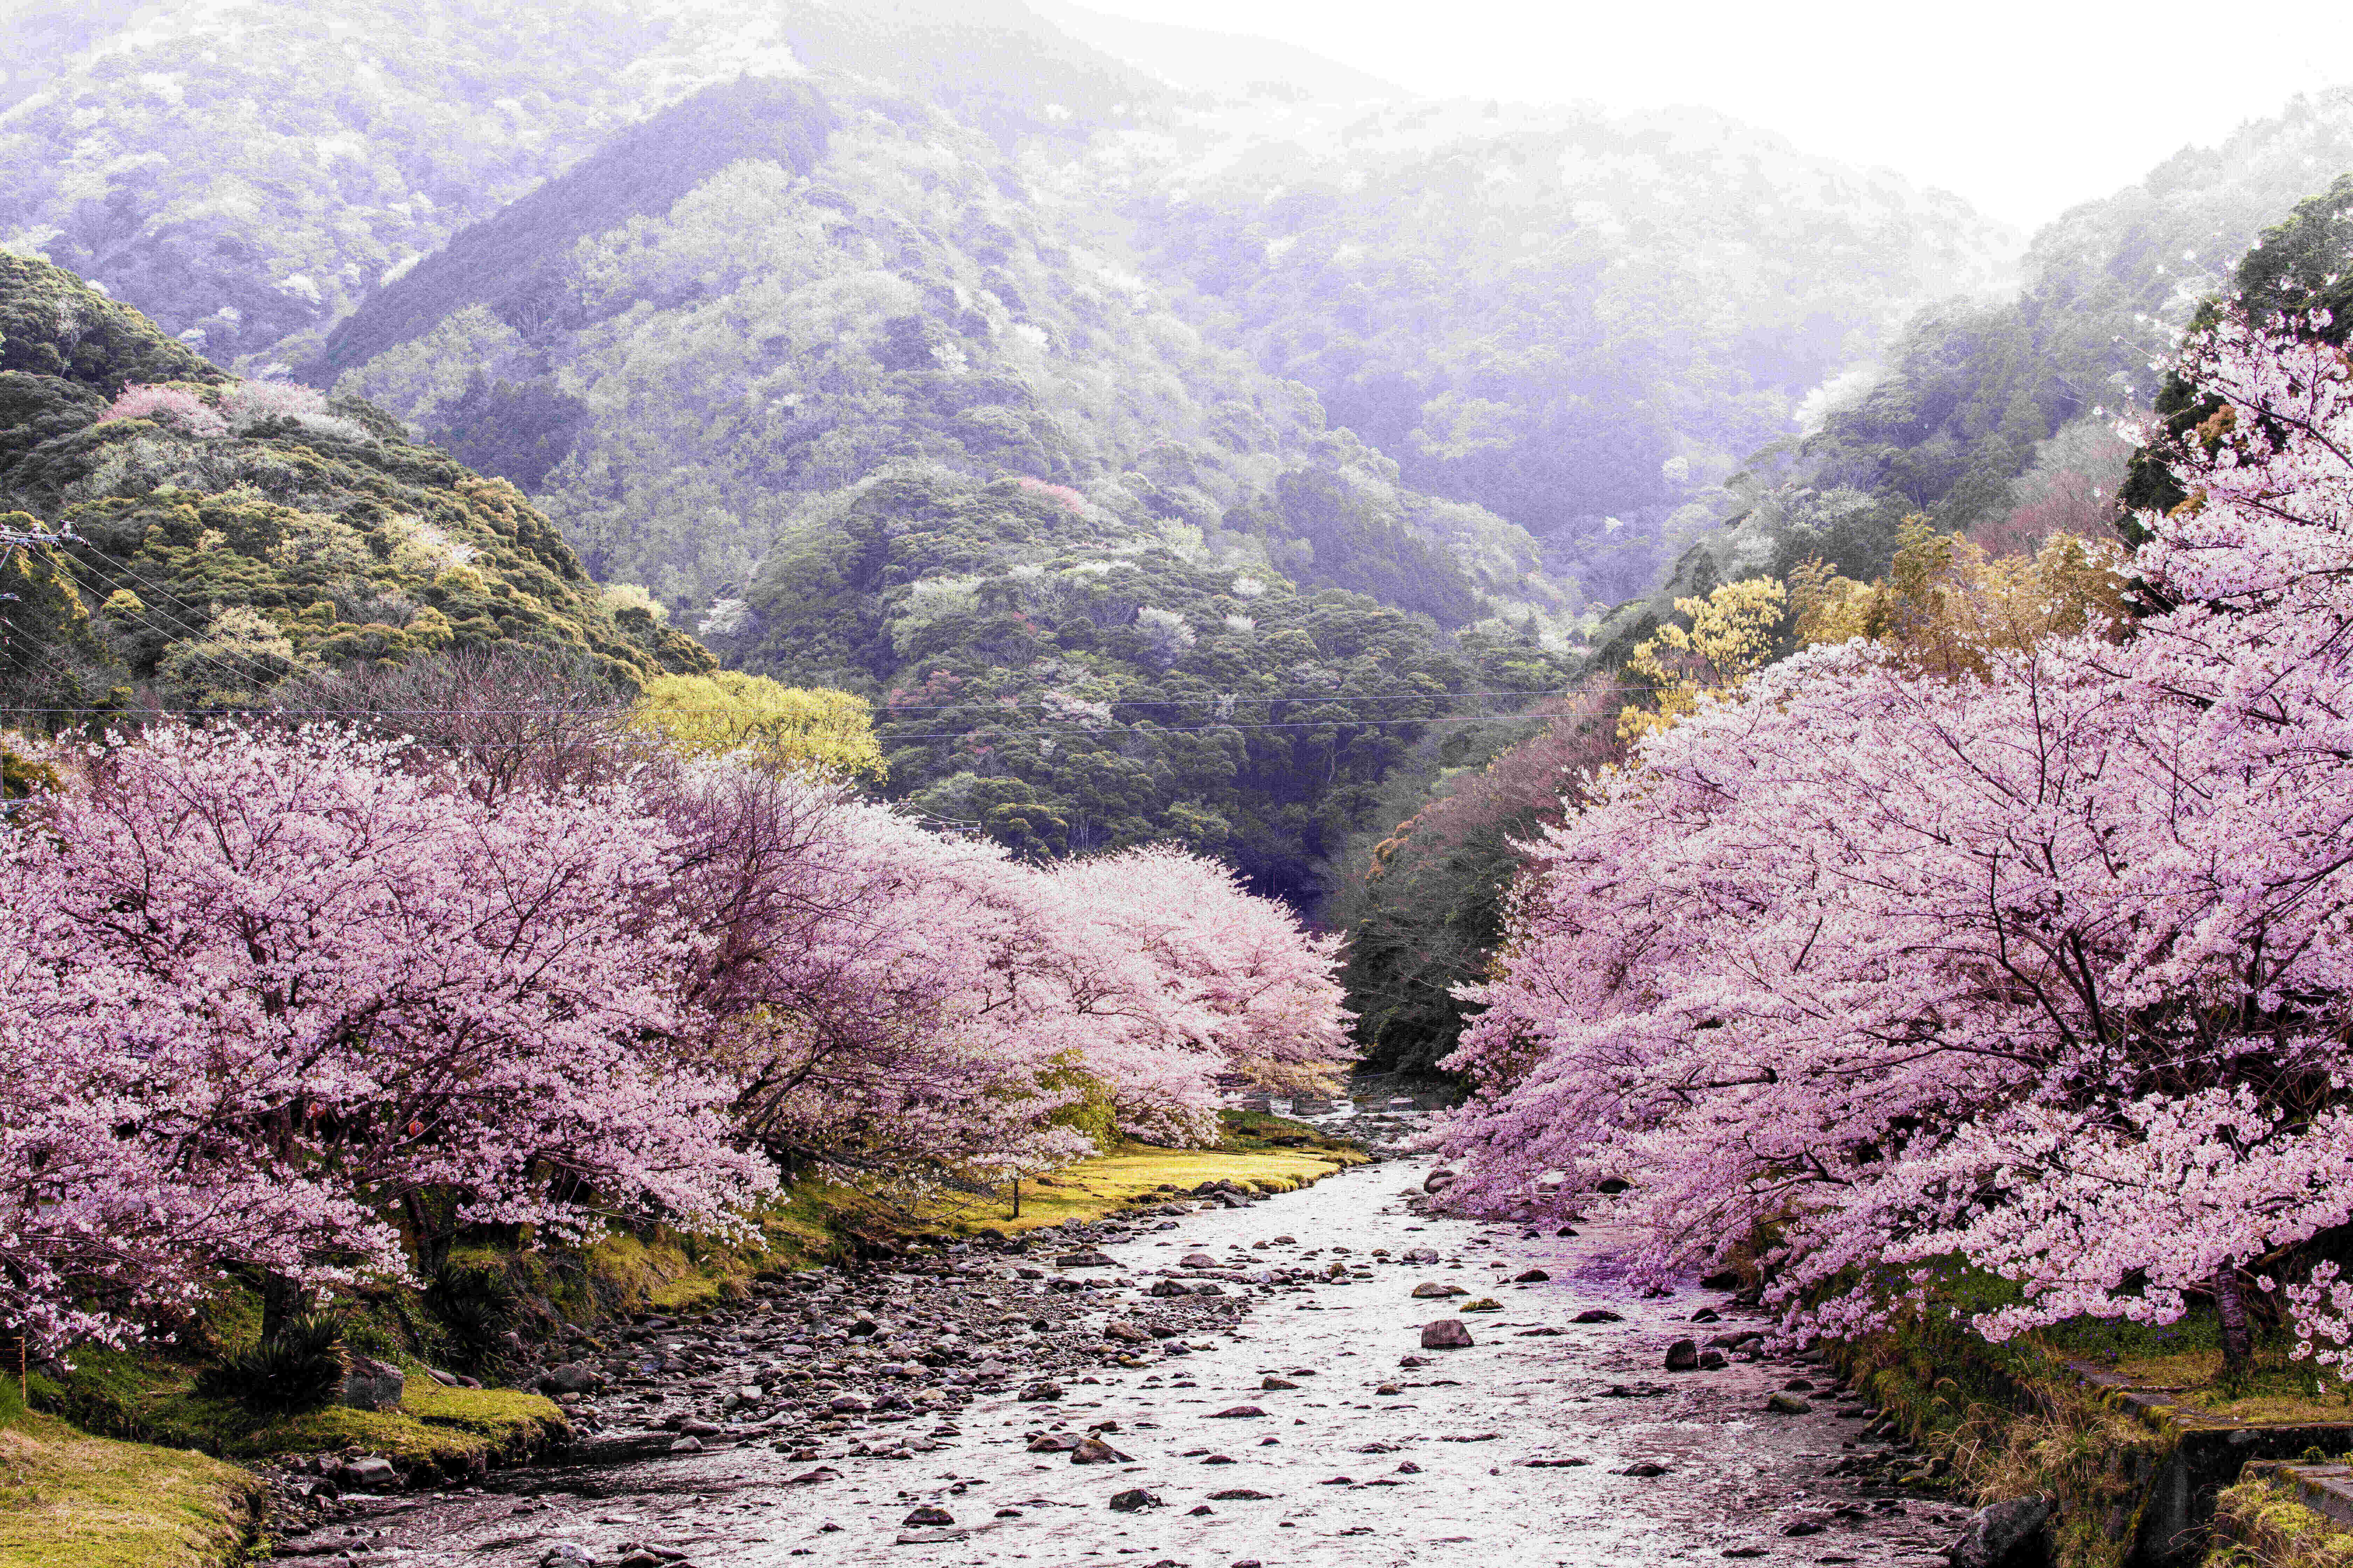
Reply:
M1202 1253L1249 1260L1242 1267L1278 1258L1301 1272L1344 1258L1369 1265L1372 1279L1242 1286L1247 1312L1224 1302L1231 1316L1188 1333L1191 1354L1144 1345L1136 1359L1146 1363L1134 1368L1012 1371L1014 1380L1059 1378L1056 1401L1024 1401L1005 1385L896 1453L871 1450L878 1427L833 1432L821 1448L807 1436L715 1439L704 1453L353 1500L339 1521L282 1552L416 1568L1129 1559L1136 1568L1584 1568L1899 1563L1927 1561L1953 1540L1962 1509L1885 1479L1885 1448L1866 1436L1875 1413L1842 1399L1819 1361L1737 1349L1718 1371L1664 1371L1673 1340L1746 1333L1760 1326L1753 1312L1687 1281L1645 1298L1626 1276L1628 1239L1607 1227L1529 1237L1412 1213L1405 1197L1428 1168L1424 1159L1374 1164L1104 1244L1132 1284L1056 1298L1075 1302L1082 1316L1071 1324L1096 1338L1108 1319L1165 1305L1139 1291L1186 1274L1179 1260L1198 1265ZM1388 1258L1374 1260L1374 1248ZM1412 1248L1431 1248L1435 1262L1400 1262ZM1304 1253L1315 1258L1301 1262ZM1548 1279L1513 1284L1529 1269ZM991 1274L955 1288L995 1284ZM1457 1284L1468 1298L1417 1300L1417 1284ZM1501 1309L1457 1312L1478 1298ZM1617 1321L1574 1321L1595 1309ZM1689 1321L1708 1309L1722 1321ZM1459 1316L1475 1342L1421 1349L1421 1326L1445 1316ZM1426 1366L1402 1366L1407 1356ZM1268 1378L1292 1387L1266 1387ZM1767 1399L1793 1380L1812 1385L1798 1389L1812 1410L1769 1413ZM725 1385L729 1373L706 1382ZM1101 1439L1127 1462L1075 1465L1068 1453L1033 1450L1040 1436L1066 1446L1113 1422ZM824 1469L812 1472L812 1460ZM1139 1490L1151 1497L1141 1509L1113 1507Z

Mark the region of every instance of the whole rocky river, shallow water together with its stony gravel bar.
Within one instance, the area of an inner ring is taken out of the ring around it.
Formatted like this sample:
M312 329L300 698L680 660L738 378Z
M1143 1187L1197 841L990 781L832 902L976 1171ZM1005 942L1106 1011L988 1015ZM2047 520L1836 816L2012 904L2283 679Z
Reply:
M1765 1354L1753 1312L1635 1291L1607 1227L1419 1213L1426 1175L1391 1159L645 1319L555 1373L584 1385L558 1462L346 1493L280 1554L1581 1568L1953 1540L1965 1509L1918 1455L1817 1359Z

